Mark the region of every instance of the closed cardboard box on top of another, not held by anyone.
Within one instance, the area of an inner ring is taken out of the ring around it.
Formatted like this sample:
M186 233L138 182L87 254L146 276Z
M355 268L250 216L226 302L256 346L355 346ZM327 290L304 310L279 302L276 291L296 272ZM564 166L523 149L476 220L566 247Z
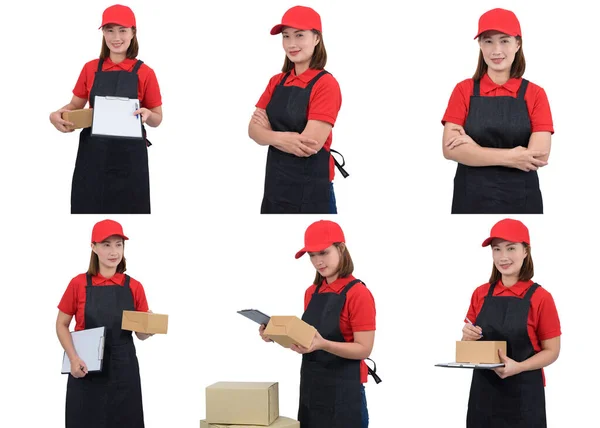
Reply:
M206 388L206 422L268 426L279 417L277 382L217 382Z

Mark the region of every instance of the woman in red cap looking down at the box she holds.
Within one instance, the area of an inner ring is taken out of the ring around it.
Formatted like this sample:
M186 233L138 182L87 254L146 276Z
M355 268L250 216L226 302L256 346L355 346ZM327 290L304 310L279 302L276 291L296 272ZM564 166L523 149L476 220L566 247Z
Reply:
M316 269L313 285L304 294L302 320L317 329L310 348L292 346L302 354L300 406L302 428L366 428L369 415L364 384L365 363L375 340L375 301L352 272L354 264L344 233L334 222L321 220L308 227L304 248ZM260 327L263 340L265 326ZM339 400L340 396L344 400ZM336 399L336 397L338 397Z

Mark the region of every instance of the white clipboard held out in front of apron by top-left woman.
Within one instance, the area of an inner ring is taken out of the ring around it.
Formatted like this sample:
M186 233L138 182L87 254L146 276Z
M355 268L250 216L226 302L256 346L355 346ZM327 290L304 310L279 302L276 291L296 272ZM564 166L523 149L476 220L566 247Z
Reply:
M138 99L126 97L94 97L92 135L142 139L142 116L133 115L140 106Z

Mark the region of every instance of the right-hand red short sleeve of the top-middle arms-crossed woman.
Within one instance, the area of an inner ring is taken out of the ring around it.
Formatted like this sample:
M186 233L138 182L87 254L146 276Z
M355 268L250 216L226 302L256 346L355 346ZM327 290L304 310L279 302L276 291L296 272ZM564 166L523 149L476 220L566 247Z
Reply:
M335 126L342 107L342 92L337 80L326 74L313 87L308 103L308 120L320 120Z

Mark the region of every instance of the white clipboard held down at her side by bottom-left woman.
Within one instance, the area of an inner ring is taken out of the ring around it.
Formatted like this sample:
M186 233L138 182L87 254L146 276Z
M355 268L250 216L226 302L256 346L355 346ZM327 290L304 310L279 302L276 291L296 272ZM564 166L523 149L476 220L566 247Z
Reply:
M79 358L83 360L89 372L101 372L104 361L104 339L106 327L90 328L88 330L74 331L71 333L73 346ZM67 353L63 353L62 374L71 373L71 361Z

